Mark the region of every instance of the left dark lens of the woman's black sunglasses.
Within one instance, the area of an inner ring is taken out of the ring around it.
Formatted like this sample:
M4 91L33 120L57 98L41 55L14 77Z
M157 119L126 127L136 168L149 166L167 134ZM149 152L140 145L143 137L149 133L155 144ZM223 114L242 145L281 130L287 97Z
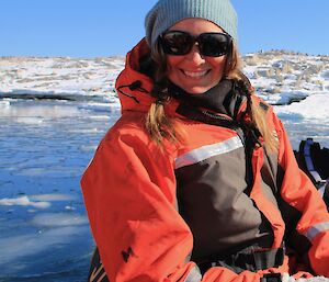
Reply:
M185 32L167 32L161 37L163 52L169 55L186 55L193 43L193 37Z

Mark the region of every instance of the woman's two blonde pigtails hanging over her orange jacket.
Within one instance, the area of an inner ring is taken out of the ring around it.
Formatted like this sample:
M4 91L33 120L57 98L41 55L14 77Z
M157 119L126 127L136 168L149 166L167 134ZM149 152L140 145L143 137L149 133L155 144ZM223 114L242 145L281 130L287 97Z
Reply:
M169 101L170 95L167 89L167 60L159 42L151 50L152 60L157 64L158 68L155 74L155 87L151 94L157 98L156 102L150 105L146 116L146 128L150 137L159 146L162 146L163 138L173 143L183 139L184 133L179 128L179 124L174 119L168 117L164 112L164 104ZM277 139L273 135L271 127L268 125L265 117L265 110L253 102L253 89L249 84L245 75L241 72L242 61L240 59L237 46L232 43L231 52L227 55L224 77L238 81L247 91L248 105L247 113L250 115L250 123L253 125L263 137L269 151L276 151Z

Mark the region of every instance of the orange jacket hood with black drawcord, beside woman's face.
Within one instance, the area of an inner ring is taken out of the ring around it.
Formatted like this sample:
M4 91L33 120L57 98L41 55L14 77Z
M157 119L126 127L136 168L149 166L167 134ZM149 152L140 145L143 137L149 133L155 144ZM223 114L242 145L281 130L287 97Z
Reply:
M115 82L122 112L147 112L156 100L150 95L154 87L152 79L139 71L139 61L148 54L150 54L150 48L144 38L126 56L125 68Z

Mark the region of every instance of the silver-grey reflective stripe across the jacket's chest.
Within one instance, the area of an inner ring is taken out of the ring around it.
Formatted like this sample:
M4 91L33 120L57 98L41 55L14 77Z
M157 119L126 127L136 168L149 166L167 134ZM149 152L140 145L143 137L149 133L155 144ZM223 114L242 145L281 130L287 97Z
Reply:
M229 138L225 142L206 145L179 156L175 159L175 168L190 166L209 157L229 153L241 147L243 147L243 144L239 136Z

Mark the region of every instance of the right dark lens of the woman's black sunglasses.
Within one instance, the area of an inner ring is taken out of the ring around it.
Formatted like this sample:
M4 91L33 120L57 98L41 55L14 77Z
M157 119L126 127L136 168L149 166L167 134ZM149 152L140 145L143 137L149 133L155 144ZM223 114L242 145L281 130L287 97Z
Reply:
M231 40L225 33L202 33L197 42L202 55L220 57L229 52Z

